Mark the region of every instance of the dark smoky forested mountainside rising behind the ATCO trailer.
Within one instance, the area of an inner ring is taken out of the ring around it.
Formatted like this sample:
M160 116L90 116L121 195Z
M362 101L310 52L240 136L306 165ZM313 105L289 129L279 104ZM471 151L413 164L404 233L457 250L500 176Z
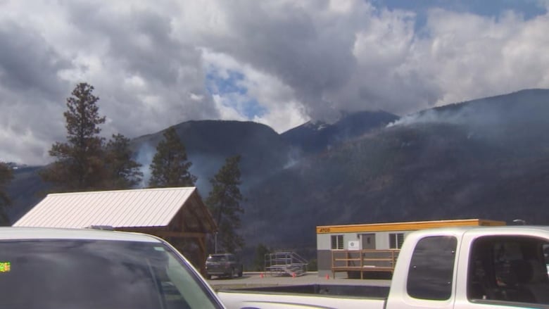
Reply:
M255 186L246 234L305 247L314 246L317 225L474 217L548 224L548 115L549 91L534 89L402 118Z

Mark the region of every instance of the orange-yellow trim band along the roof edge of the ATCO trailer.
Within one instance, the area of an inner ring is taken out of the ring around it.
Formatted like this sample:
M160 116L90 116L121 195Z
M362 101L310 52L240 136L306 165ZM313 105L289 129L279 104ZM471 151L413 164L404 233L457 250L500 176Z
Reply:
M372 223L372 224L365 224L365 225L322 225L322 226L317 226L317 234L415 231L417 229L431 229L436 227L498 226L498 225L505 225L505 222L495 221L495 220L482 220L482 219L464 219L464 220Z

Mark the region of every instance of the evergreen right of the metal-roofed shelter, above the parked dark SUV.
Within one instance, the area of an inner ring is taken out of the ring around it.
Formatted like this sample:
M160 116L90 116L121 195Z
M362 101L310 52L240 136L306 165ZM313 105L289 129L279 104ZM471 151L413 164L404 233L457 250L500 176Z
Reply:
M244 239L236 233L240 227L240 214L244 213L240 202L242 194L239 186L240 180L240 156L233 156L225 160L219 172L210 179L212 191L206 199L206 205L210 208L217 229L217 241L226 252L234 253L236 248L244 246Z

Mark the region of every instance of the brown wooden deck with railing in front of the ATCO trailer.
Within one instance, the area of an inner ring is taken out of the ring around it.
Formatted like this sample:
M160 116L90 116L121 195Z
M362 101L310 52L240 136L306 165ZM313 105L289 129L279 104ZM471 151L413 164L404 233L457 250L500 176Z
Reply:
M393 272L398 249L389 250L332 250L332 277L336 272Z

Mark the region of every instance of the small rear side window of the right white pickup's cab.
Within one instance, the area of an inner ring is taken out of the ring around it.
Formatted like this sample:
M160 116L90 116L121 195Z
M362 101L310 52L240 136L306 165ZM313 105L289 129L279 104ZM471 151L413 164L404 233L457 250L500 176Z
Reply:
M450 298L456 246L457 239L449 236L425 237L417 242L408 270L408 295L436 301Z

